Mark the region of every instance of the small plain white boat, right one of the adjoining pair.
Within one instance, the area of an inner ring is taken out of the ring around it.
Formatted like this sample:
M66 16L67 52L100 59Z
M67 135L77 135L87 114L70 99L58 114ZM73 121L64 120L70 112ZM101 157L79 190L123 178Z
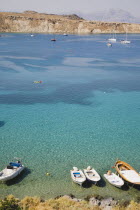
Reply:
M95 183L100 181L101 179L97 171L95 171L94 168L91 168L91 166L88 166L87 169L84 169L84 174L89 181L92 181Z

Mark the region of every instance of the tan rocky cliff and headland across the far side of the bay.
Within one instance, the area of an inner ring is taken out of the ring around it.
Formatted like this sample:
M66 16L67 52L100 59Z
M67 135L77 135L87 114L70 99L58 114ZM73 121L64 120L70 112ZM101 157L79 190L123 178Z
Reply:
M0 32L96 34L126 31L140 33L140 24L86 21L76 15L0 13Z

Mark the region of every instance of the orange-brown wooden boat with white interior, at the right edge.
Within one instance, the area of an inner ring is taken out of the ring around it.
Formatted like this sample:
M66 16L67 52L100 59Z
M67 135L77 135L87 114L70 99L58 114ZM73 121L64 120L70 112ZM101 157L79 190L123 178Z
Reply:
M125 181L140 185L140 174L128 163L118 160L115 163L115 169Z

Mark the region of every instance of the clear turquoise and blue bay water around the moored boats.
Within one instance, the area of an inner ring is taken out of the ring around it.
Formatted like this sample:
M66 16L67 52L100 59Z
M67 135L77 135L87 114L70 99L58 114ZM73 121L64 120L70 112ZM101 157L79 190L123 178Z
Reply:
M69 173L91 165L103 177L117 158L140 171L140 35L110 48L108 35L51 38L0 37L0 169L14 157L27 167L0 184L0 197L140 196L139 189L120 190L104 178L81 188Z

